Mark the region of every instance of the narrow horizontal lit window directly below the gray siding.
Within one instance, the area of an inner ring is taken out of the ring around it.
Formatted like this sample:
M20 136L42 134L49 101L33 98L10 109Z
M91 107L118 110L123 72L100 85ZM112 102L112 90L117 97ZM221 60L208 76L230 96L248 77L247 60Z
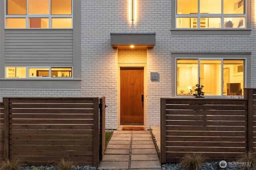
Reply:
M72 78L72 68L71 67L6 67L6 78L36 78L36 77Z

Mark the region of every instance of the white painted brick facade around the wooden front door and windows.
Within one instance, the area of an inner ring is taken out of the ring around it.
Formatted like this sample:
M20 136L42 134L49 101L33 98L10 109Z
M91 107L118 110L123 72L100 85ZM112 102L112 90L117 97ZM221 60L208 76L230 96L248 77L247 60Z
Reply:
M142 51L138 62L147 63L147 126L160 125L160 98L170 97L172 53L251 53L251 84L256 87L255 0L251 5L251 35L172 35L171 0L137 0L138 13L129 21L129 0L82 0L82 89L0 90L1 97L106 96L106 129L117 128L118 62L129 62L127 51L113 49L110 33L156 33L156 45ZM74 11L75 12L75 11ZM146 55L146 56L145 56ZM119 56L119 57L118 57ZM150 80L158 72L159 81Z

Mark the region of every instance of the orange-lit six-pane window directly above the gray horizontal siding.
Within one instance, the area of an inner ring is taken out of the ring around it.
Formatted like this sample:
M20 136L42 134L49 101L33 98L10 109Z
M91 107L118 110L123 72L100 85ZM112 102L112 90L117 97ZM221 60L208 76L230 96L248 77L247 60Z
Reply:
M72 28L72 0L6 0L6 28Z

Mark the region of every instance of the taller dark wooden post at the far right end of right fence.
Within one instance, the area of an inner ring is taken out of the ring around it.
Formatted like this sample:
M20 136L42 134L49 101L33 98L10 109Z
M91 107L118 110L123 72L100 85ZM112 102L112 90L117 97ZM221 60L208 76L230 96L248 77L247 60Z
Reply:
M249 151L253 148L253 89L246 90L246 99L248 99L248 108L247 108L247 148Z

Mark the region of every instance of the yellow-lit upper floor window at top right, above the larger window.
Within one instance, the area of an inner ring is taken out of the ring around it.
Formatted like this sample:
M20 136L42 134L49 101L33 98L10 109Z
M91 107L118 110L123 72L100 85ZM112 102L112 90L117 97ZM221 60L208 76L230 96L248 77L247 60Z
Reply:
M177 0L176 28L246 28L246 0Z

